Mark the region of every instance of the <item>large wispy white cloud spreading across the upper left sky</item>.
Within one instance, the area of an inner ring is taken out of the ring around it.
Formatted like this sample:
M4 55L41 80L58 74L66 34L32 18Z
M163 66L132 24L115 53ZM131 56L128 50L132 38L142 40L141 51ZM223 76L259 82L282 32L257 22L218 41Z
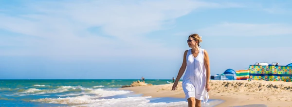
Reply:
M45 56L157 56L169 57L164 44L144 36L165 29L176 18L199 8L240 7L235 3L193 0L106 0L34 1L20 8L24 14L0 14L0 29L35 36L24 39L30 49L1 52L2 55L27 53ZM18 11L18 10L16 10ZM104 37L87 29L100 27ZM12 41L17 41L17 38ZM21 37L20 37L21 39ZM19 39L18 39L19 40Z

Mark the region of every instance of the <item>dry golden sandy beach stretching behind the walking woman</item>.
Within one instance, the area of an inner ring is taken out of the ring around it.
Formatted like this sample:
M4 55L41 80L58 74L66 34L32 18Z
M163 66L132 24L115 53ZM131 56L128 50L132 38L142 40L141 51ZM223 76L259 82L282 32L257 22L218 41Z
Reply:
M143 96L184 98L182 82L177 90L172 91L173 84L138 86L121 88L134 91ZM264 104L268 107L292 107L292 82L283 81L247 81L247 80L211 80L210 99L224 100L217 107L233 107Z

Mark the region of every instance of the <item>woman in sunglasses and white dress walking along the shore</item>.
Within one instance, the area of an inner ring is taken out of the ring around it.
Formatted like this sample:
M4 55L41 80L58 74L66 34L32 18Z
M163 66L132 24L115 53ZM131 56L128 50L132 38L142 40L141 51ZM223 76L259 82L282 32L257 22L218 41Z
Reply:
M182 86L188 107L201 107L201 100L208 100L211 89L209 56L206 50L200 48L200 42L202 39L198 34L188 36L187 44L191 49L184 51L183 64L172 86L172 90L176 90L186 69Z

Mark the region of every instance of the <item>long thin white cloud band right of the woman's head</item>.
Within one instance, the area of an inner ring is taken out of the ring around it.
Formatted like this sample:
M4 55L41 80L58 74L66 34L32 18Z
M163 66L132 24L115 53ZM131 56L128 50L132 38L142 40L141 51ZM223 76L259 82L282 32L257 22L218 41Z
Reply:
M292 26L288 24L251 24L251 23L220 23L207 28L193 30L203 36L278 36L291 35ZM184 32L181 34L190 34Z

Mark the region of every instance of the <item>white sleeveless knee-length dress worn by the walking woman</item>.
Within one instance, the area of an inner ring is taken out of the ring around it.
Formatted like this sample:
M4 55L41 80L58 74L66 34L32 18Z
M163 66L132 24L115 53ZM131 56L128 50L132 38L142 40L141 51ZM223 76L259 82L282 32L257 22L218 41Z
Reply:
M185 98L195 97L198 100L207 102L209 99L206 86L206 68L204 65L204 49L200 48L197 57L191 52L187 51L186 55L186 71L183 76L183 91Z

